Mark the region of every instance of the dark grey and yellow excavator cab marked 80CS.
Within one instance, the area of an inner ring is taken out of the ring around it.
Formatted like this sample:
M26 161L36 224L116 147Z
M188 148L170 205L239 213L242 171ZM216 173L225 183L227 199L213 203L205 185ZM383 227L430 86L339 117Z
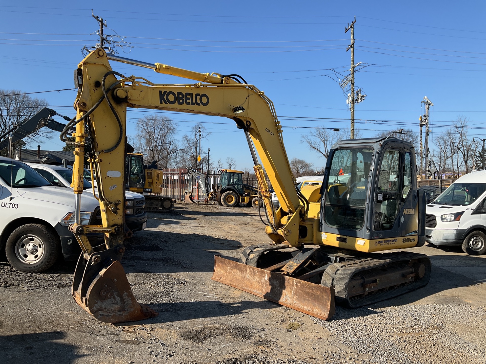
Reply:
M411 193L416 184L415 151L406 141L334 144L321 187L323 244L364 252L423 245L425 209Z

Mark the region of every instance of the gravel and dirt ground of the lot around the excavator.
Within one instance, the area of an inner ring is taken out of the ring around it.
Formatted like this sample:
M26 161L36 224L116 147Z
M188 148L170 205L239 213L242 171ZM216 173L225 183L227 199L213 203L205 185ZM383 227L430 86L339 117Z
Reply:
M211 281L216 253L267 242L257 210L176 205L149 214L122 264L159 315L103 324L73 301L74 263L43 274L0 263L0 363L486 363L486 260L422 247L425 288L315 319Z

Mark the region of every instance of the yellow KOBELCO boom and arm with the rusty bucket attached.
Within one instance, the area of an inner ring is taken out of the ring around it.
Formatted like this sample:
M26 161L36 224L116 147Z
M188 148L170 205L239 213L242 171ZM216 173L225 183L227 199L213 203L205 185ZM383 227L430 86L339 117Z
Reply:
M112 70L109 59L197 82L157 84L135 76L125 77ZM72 294L87 312L104 322L135 321L156 314L137 302L120 264L123 240L130 236L123 223L127 107L233 119L245 132L250 147L268 212L267 234L275 243L285 243L287 247L300 245L299 222L305 215L305 199L295 188L273 103L255 86L236 82L232 76L202 74L107 55L103 49L87 55L75 70L74 79L78 86L76 117L61 133L61 140L66 142L66 132L75 127L72 186L77 217L69 229L83 253L76 267ZM85 153L87 143L91 144L90 153ZM80 224L85 163L96 172L103 225ZM280 201L277 212L271 203L263 168ZM104 232L105 246L92 247L88 232Z

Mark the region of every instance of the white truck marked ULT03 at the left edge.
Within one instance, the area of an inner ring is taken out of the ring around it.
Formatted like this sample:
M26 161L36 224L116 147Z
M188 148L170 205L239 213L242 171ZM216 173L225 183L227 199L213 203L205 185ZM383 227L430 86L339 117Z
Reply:
M62 253L79 257L81 248L69 224L74 222L72 190L54 186L30 166L0 157L0 249L23 272L49 269ZM92 223L100 205L81 195L81 224ZM88 234L92 245L104 243L103 234Z

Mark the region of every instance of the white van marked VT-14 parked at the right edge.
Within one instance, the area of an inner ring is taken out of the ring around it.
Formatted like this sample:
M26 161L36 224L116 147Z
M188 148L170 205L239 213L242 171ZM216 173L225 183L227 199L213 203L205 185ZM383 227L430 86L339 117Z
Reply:
M427 205L425 240L457 245L470 255L486 252L486 171L468 173Z

